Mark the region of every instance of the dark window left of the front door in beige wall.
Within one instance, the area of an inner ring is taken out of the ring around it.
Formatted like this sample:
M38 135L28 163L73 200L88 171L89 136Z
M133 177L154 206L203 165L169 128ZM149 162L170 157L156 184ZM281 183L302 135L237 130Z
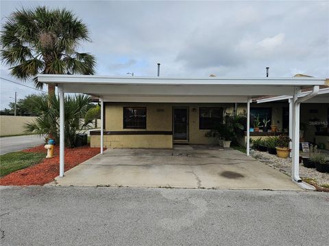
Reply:
M146 129L146 107L123 107L123 128Z

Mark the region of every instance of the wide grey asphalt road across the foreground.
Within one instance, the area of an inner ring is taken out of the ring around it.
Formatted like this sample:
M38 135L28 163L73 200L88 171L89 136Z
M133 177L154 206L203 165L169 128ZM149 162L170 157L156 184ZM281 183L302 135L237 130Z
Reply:
M329 193L2 187L4 245L328 245Z

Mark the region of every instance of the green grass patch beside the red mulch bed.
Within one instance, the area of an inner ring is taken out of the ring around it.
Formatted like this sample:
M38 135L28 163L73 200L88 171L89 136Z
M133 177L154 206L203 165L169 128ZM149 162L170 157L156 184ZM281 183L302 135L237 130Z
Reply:
M12 152L0 156L0 176L40 163L45 153Z

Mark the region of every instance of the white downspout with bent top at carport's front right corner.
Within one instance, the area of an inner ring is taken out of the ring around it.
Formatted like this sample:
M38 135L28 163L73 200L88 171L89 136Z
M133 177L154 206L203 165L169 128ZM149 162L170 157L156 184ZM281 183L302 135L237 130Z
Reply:
M317 96L319 93L319 85L314 85L312 92L310 94L307 94L306 96L303 97L297 97L294 100L293 103L293 111L294 111L294 122L295 122L295 127L293 131L295 134L293 134L293 167L292 167L292 175L291 178L295 180L296 182L302 182L300 178L300 172L299 172L299 165L300 165L300 104L310 98L313 98ZM295 97L294 97L295 98Z

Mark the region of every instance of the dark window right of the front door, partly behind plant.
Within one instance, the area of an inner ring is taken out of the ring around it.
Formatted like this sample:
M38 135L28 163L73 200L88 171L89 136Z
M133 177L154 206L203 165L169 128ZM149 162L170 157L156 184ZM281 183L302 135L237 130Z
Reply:
M199 111L199 129L211 130L223 122L223 109L202 107Z

